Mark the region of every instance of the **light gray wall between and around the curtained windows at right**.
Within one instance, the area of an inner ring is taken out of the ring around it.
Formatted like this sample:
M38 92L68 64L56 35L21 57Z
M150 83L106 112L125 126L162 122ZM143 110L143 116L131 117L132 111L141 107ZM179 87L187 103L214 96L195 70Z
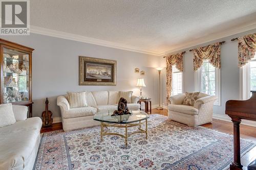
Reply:
M229 37L221 38L215 41L207 42L190 48L185 48L178 52L186 51L184 54L183 64L183 81L184 92L195 90L195 78L193 70L193 52L189 52L190 49L205 46L211 43L226 41L221 45L221 106L214 106L214 114L225 115L225 103L228 100L239 100L239 67L238 67L238 42L230 41L232 38L240 37L243 35L255 33L256 29L243 32L240 34L232 35ZM178 53L178 52L174 52ZM165 63L165 60L161 58L161 63ZM163 71L163 102L166 99L166 74ZM164 103L166 104L166 103Z

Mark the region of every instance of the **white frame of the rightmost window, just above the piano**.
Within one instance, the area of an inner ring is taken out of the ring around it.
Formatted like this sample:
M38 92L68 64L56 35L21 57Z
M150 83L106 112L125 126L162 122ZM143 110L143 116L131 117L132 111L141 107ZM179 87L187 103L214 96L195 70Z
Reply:
M256 61L256 54L250 61ZM247 100L251 97L250 92L250 61L239 68L240 100Z

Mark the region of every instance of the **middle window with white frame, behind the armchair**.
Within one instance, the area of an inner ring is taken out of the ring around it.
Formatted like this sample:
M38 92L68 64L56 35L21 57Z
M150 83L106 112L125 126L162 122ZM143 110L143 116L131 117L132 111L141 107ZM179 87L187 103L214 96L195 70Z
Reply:
M220 69L215 68L208 60L204 60L201 68L195 72L195 91L216 95L215 105L220 106Z

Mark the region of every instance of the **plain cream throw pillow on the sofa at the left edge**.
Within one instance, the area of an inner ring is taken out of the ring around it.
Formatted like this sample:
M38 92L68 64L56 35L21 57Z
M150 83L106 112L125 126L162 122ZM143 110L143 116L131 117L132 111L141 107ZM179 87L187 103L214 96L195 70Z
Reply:
M0 116L0 128L12 125L16 122L11 103L0 105Z

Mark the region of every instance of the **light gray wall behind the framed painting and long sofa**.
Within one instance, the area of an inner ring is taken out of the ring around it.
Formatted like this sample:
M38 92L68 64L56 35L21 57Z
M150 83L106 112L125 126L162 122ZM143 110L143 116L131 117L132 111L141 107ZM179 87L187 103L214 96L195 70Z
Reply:
M158 104L158 71L159 57L141 53L118 50L94 44L55 38L39 34L30 36L1 36L1 38L20 43L35 49L32 55L32 94L33 116L40 116L45 110L45 99L50 101L49 110L53 117L59 117L60 111L56 105L58 95L67 91L80 90L133 90L139 74L134 73L138 67L145 71L146 87L142 94L152 98L152 104ZM116 86L79 86L78 56L87 56L117 61Z

